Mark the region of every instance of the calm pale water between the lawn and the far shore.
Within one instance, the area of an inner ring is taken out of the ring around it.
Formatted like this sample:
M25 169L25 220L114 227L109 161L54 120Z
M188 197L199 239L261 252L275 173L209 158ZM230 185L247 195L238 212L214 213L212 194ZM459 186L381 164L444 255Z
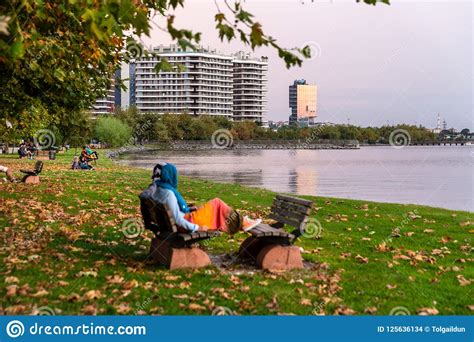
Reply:
M277 192L474 211L472 146L155 151L123 162L151 169L157 160L183 175Z

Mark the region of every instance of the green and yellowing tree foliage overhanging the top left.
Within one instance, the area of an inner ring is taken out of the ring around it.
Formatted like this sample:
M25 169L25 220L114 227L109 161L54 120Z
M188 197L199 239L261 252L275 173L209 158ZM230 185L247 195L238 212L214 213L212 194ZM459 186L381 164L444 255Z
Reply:
M309 47L281 47L240 1L215 3L221 40L239 39L252 49L270 46L287 67L310 57ZM153 16L166 18L163 29L181 47L195 47L201 34L174 24L173 11L183 6L184 0L2 1L0 131L7 121L24 135L65 120L80 124L80 115L74 122L77 113L105 95L121 61L136 57L130 47L150 35Z

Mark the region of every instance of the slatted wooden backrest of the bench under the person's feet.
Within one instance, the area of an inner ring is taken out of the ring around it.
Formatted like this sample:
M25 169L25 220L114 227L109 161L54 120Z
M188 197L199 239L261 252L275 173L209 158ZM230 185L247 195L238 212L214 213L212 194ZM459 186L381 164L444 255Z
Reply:
M277 195L273 201L270 218L304 231L311 214L313 202L286 195Z

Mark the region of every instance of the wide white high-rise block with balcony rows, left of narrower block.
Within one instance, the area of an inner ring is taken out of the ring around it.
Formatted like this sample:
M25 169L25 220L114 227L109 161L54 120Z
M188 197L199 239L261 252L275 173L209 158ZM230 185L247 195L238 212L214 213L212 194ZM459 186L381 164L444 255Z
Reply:
M166 58L172 71L155 71ZM141 112L232 118L232 57L215 50L159 46L136 60L135 104ZM184 70L179 70L182 66Z

